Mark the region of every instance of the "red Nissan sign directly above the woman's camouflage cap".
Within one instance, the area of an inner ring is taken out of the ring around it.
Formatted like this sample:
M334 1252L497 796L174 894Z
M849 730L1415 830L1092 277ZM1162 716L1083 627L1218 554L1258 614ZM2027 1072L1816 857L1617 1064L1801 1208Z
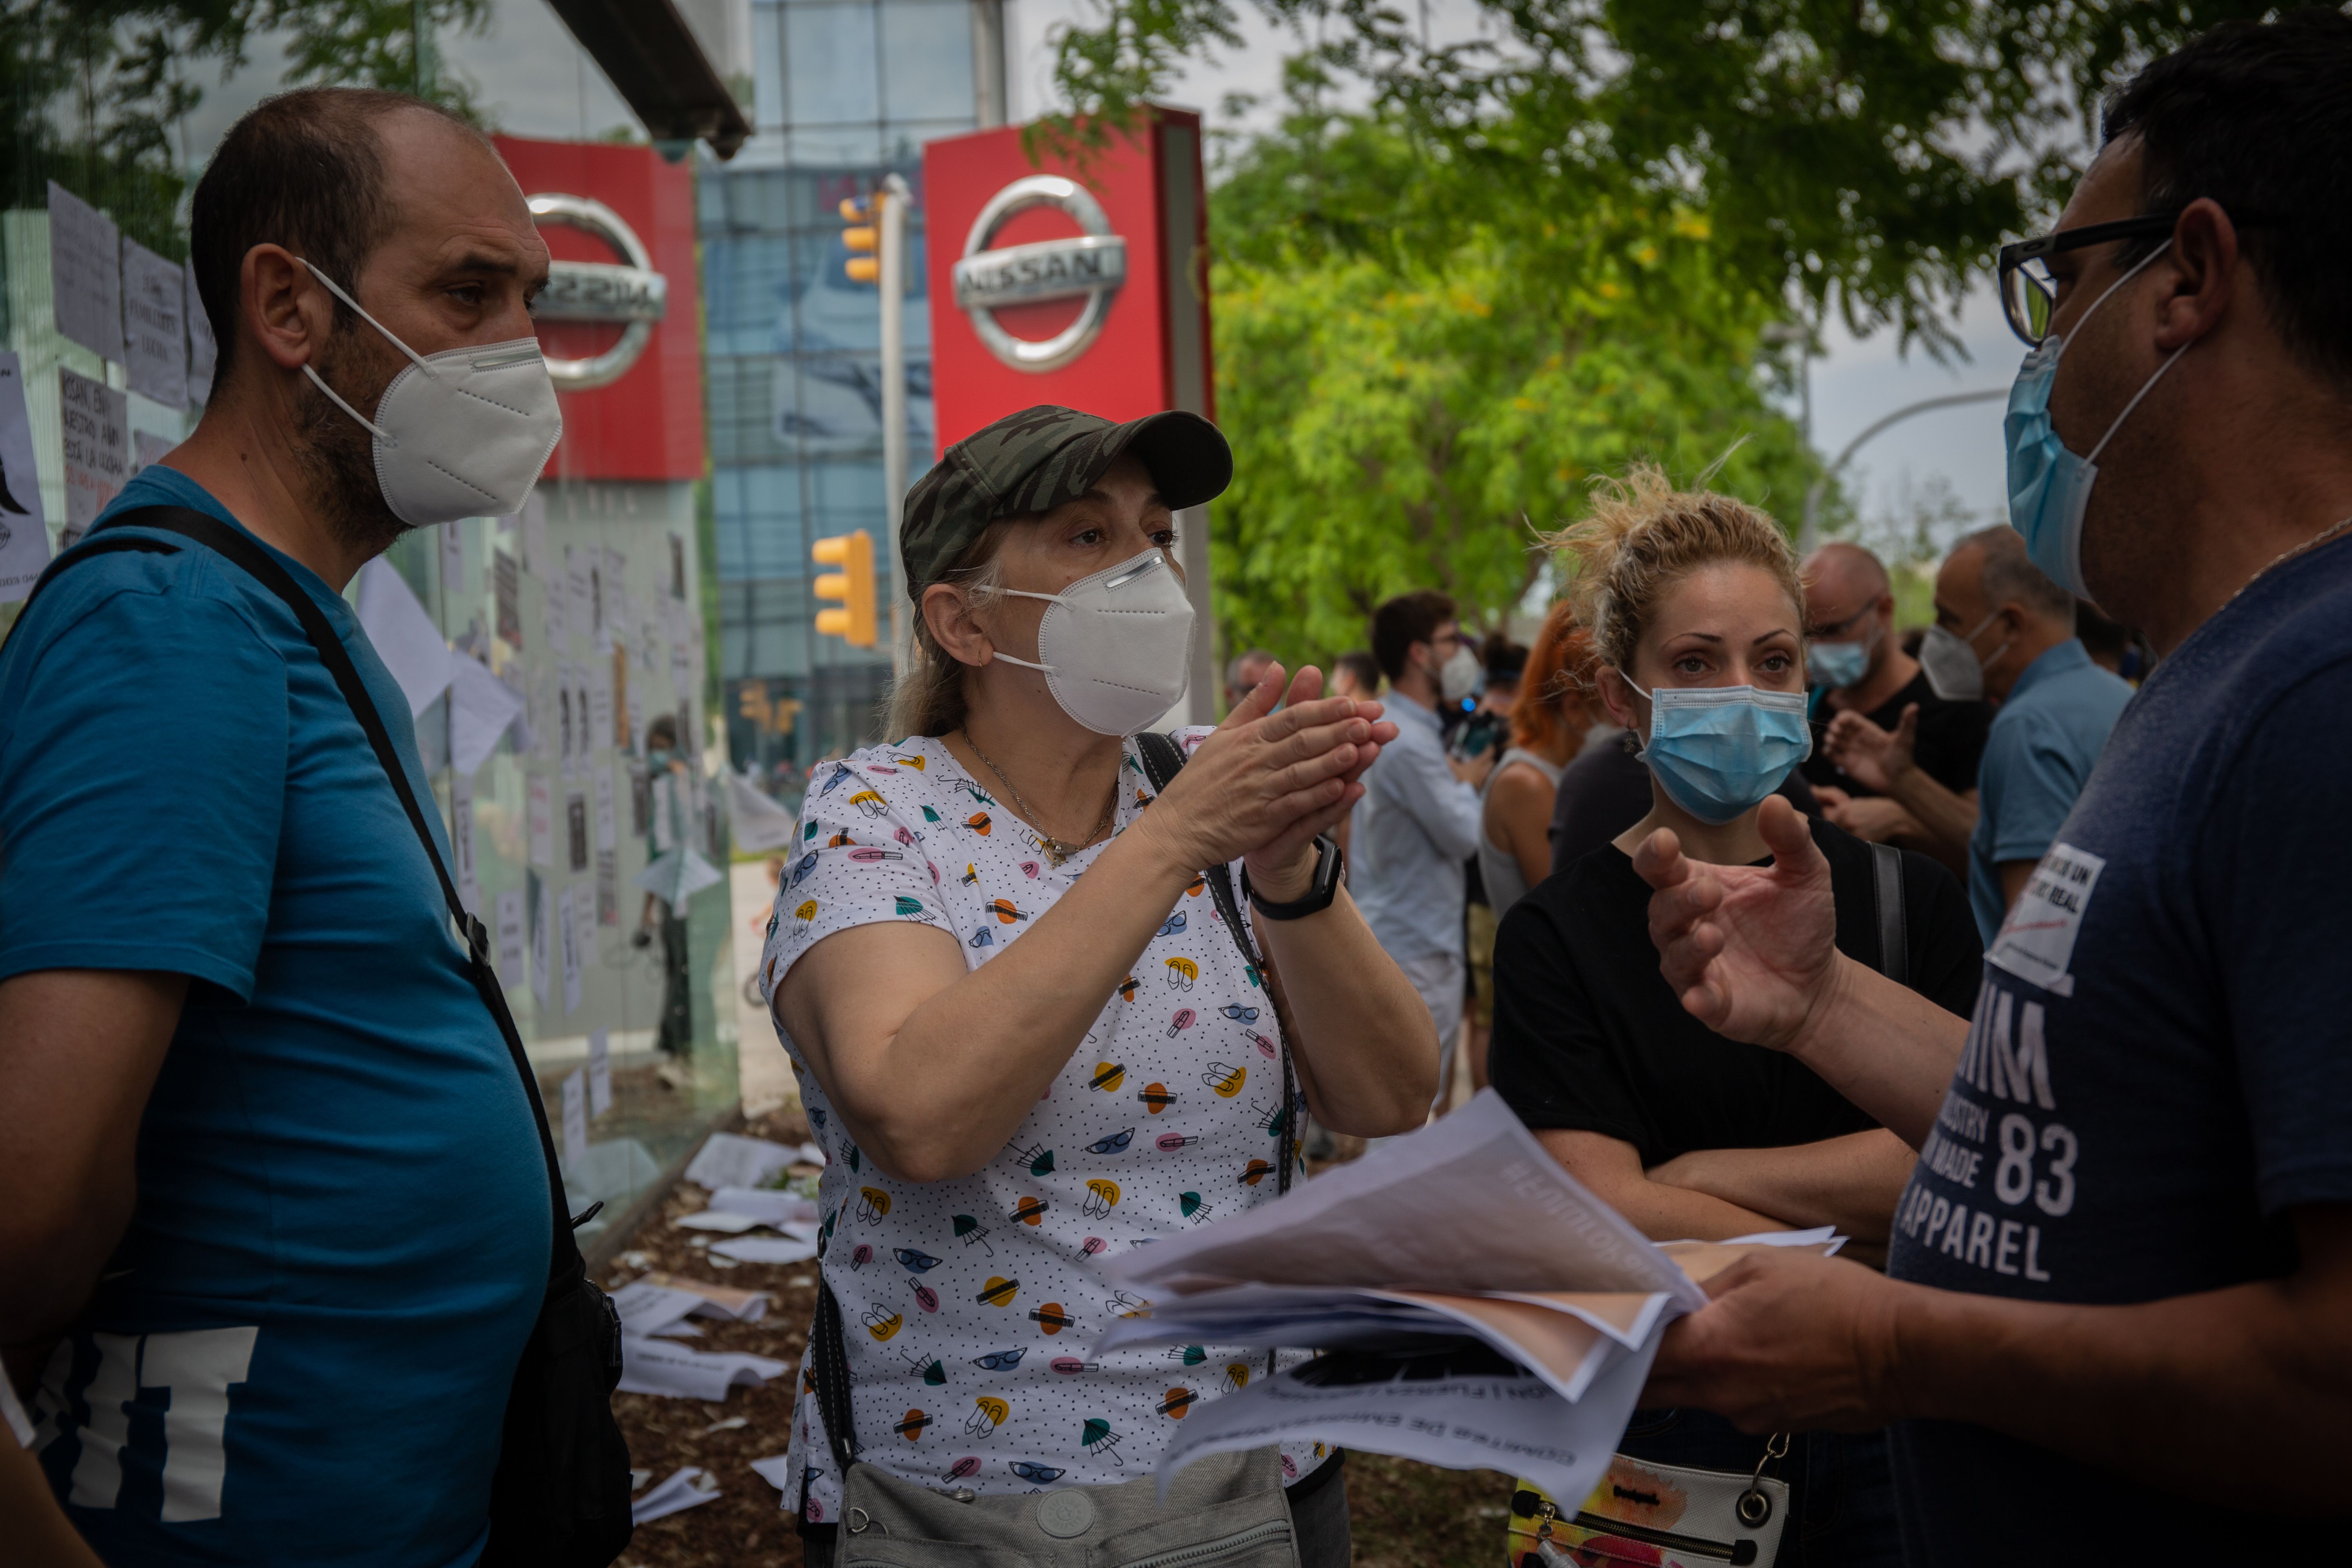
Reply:
M1084 167L1021 127L922 153L938 444L1040 402L1216 416L1200 115L1152 108Z

